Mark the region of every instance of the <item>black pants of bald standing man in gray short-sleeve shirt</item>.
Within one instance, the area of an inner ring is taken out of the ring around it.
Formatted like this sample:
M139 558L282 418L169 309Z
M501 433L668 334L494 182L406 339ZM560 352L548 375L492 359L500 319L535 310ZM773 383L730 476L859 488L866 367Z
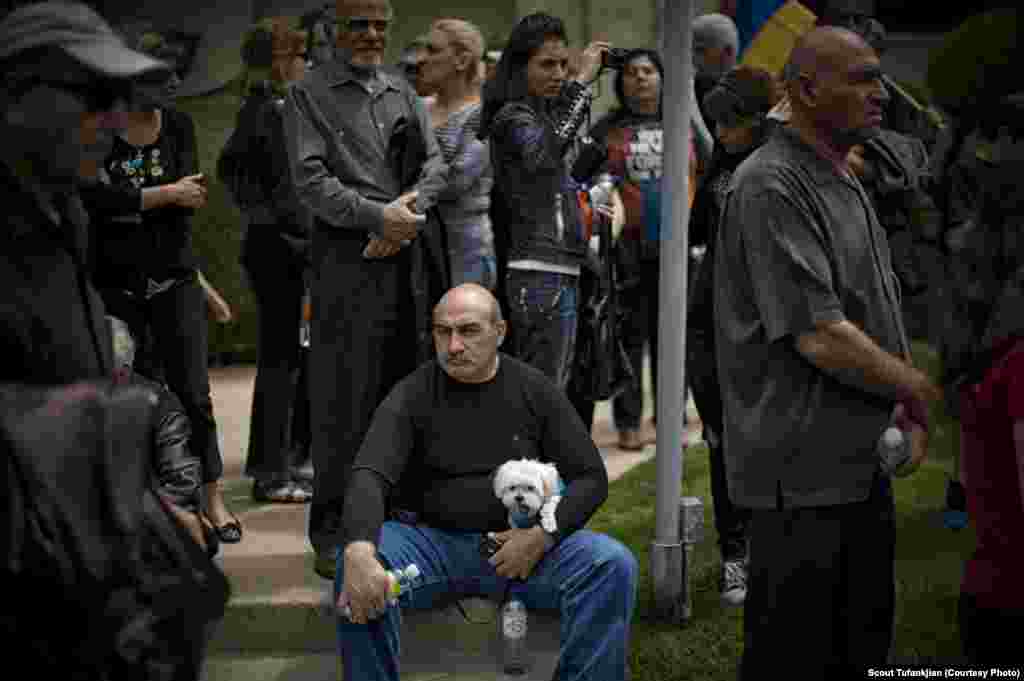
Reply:
M885 665L894 545L892 487L881 475L860 503L755 509L739 678L863 678L864 667Z

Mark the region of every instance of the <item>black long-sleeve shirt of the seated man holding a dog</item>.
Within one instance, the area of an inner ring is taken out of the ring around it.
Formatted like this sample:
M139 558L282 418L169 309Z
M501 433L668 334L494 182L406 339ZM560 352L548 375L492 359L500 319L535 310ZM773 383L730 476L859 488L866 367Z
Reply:
M469 384L427 363L374 415L345 495L343 545L376 544L390 502L442 529L508 529L492 476L523 458L555 464L565 482L555 512L559 538L583 527L608 496L590 434L541 372L501 355L493 380Z

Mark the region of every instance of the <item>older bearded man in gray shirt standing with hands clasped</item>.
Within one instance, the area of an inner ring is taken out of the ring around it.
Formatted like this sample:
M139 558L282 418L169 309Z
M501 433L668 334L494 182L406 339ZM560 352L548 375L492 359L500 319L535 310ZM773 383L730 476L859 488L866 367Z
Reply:
M430 310L446 284L425 213L447 168L416 93L382 68L390 3L338 0L338 19L337 58L285 105L296 189L315 216L309 534L325 576L352 460L388 390L429 356Z

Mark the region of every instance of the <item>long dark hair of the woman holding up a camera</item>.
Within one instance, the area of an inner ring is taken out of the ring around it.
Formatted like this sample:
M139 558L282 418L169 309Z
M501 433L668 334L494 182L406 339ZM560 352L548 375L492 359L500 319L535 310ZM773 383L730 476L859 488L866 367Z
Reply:
M508 45L502 50L502 58L498 60L495 76L483 87L480 139L490 133L490 125L502 107L528 96L526 63L552 38L568 42L562 20L545 12L522 17L512 30Z

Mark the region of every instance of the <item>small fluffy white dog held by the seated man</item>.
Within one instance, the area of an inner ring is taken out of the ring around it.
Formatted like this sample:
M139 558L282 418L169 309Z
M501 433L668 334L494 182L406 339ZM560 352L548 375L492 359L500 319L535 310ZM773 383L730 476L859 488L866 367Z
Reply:
M555 508L564 488L553 464L534 459L506 462L495 472L495 496L508 509L512 527L532 526L540 515L541 526L555 531Z

